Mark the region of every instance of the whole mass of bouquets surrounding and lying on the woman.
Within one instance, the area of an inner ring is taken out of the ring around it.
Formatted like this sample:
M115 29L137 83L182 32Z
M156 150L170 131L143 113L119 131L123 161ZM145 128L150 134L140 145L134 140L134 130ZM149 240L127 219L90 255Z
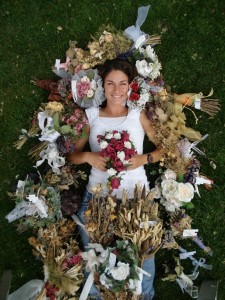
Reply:
M172 92L165 84L154 50L160 36L139 30L137 37L136 30L135 26L124 32L112 25L101 27L87 50L70 41L65 63L56 59L53 67L60 79L33 81L49 91L48 101L34 112L30 129L22 129L15 147L21 149L28 139L37 139L29 155L38 170L18 181L15 192L10 194L15 209L6 218L9 222L19 220L20 232L32 228L36 235L29 243L34 255L43 261L44 281L33 294L35 299L87 299L93 282L102 299L139 299L143 276L151 275L142 269L143 260L160 249L175 249L178 253L175 271L167 268L167 275L175 273L164 280L176 281L192 298L198 295L193 284L198 268L211 269L205 259L194 257L196 251L180 246L182 240L190 239L204 253L212 255L198 237L198 229L192 229L192 218L185 211L194 207L196 194L200 197L199 185L208 189L213 186L213 180L201 174L198 160L198 155L206 156L197 146L207 134L188 127L185 112L191 111L197 123L194 109L213 118L220 104L211 98L213 90L206 96L201 92ZM155 187L146 192L136 185L134 199L131 201L124 191L122 202L117 205L110 191L120 185L135 146L129 132L98 136L101 155L107 158L109 194L102 196L100 183L93 188L93 200L85 213L87 223L83 226L91 244L88 251L83 251L74 215L81 201L79 182L87 176L67 161L67 155L75 150L76 141L86 135L85 109L98 107L105 100L96 66L116 57L137 68L127 105L146 112L156 132L154 142L162 149L163 157ZM114 149L113 157L109 148ZM195 262L191 275L186 275L181 266L186 258ZM85 270L89 272L86 281Z

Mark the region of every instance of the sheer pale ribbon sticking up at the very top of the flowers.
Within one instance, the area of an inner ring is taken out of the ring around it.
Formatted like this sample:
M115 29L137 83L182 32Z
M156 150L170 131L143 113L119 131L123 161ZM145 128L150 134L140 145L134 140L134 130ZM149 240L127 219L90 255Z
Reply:
M134 42L137 42L134 44L133 47L138 48L145 42L145 35L143 31L141 31L140 27L145 22L148 11L149 11L150 5L148 6L141 6L138 8L138 15L137 20L135 23L135 26L132 25L124 30L124 35L127 36L129 39L133 40ZM138 39L140 40L138 41Z

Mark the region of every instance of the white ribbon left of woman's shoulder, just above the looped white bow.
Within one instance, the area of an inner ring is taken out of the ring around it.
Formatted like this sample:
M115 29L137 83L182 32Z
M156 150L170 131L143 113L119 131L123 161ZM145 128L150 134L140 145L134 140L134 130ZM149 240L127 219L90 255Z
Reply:
M54 121L45 112L38 113L38 125L41 129L40 141L53 143L60 136L60 133L54 129Z

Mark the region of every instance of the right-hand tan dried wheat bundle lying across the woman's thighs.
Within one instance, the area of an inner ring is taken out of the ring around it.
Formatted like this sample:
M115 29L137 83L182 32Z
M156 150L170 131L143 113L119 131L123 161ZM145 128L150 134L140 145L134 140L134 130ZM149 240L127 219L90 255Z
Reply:
M158 204L153 201L152 193L146 194L145 188L136 185L134 199L129 200L124 192L115 234L138 246L141 261L159 250L163 232Z

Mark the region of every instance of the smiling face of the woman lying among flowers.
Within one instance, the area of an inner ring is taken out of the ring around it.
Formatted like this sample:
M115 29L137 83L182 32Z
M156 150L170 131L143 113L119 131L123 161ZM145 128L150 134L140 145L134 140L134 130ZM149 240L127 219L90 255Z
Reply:
M128 76L122 71L112 70L105 78L104 88L107 104L123 104L129 89Z

